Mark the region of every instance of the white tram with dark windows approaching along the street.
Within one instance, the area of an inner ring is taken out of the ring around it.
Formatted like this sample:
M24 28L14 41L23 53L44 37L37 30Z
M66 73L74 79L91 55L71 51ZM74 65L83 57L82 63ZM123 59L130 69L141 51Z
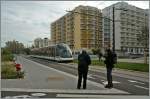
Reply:
M34 48L31 50L31 56L54 60L57 62L73 61L72 51L67 44L61 43L43 48Z

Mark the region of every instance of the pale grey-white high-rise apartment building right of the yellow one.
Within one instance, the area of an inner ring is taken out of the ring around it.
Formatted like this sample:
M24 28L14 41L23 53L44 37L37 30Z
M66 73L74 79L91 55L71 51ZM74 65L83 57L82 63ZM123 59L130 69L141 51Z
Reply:
M143 54L144 46L137 41L143 26L148 25L148 10L118 2L102 10L103 17L113 19L115 16L115 50L120 54ZM112 20L103 18L104 47L113 47Z

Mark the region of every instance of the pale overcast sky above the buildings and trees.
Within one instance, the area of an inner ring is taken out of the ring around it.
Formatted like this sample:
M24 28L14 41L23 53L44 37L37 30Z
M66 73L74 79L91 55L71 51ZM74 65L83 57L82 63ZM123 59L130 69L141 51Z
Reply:
M66 10L78 5L99 9L118 1L3 1L1 3L2 46L8 40L18 40L25 45L37 37L50 38L50 24L63 16ZM129 4L148 9L148 1L127 1Z

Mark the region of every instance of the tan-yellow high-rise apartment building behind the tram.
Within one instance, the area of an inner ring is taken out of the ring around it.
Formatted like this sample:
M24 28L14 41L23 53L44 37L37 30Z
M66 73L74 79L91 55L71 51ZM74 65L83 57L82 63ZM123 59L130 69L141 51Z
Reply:
M66 43L73 51L102 48L101 17L95 7L76 7L51 24L52 42Z

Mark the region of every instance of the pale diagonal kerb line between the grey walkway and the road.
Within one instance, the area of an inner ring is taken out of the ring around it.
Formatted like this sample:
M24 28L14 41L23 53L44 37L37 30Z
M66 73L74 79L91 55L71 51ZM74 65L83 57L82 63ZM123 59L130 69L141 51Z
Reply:
M25 59L25 58L24 58L24 59ZM54 69L54 68L51 68L51 67L42 65L42 64L40 64L40 63L31 61L31 60L28 60L28 59L26 59L26 60L27 60L27 61L30 61L30 62L32 62L32 63L35 63L35 64L37 64L38 66L41 66L41 67L44 67L44 68L47 68L47 69L50 69L50 70L59 72L59 73L61 73L61 74L63 74L63 75L66 75L66 76L69 76L69 77L72 77L72 78L75 78L75 79L78 79L77 76L75 76L75 75L72 75L72 74L69 74L69 73L66 73L66 72L63 72L63 71L60 71L60 70L57 70L57 69ZM90 81L90 80L87 80L87 83L92 84L92 85L97 86L97 87L104 88L104 86L103 86L102 84L96 83L96 82L93 82L93 81ZM113 90L114 92L116 92L116 93L128 93L128 92L126 92L126 91L118 90L118 89L115 89L115 88L112 88L112 90ZM129 93L128 93L128 94L129 94Z

